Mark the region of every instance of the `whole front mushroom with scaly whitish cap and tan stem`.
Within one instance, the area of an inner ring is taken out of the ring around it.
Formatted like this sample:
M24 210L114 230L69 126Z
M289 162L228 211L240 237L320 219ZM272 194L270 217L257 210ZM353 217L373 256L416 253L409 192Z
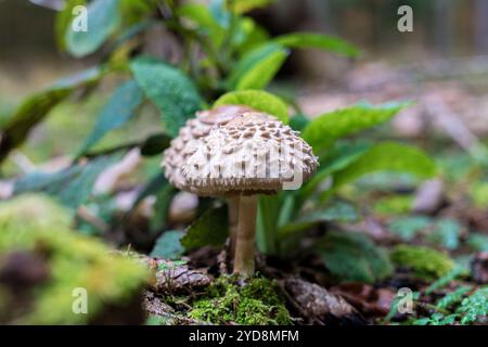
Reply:
M211 129L201 141L182 175L200 195L240 196L234 273L249 277L257 195L274 194L297 178L301 184L316 171L317 157L298 131L259 112L246 112Z

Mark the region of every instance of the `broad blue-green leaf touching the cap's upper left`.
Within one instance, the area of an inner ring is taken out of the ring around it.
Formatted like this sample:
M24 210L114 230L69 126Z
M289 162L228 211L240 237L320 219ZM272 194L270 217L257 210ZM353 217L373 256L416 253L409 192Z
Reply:
M193 82L178 68L150 57L138 57L130 68L144 93L162 113L165 130L176 137L180 127L203 107Z

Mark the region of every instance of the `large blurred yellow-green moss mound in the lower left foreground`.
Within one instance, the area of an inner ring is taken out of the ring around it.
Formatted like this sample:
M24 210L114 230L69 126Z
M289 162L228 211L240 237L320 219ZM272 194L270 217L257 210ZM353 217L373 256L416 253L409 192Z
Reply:
M28 309L7 320L33 324L88 323L105 305L129 304L149 279L149 270L142 265L110 256L111 249L102 242L75 233L70 220L69 213L39 194L0 203L0 255L36 254L49 269L48 279L29 290ZM72 310L76 298L73 291L77 287L87 290L88 314L75 314ZM0 284L0 290L9 288ZM15 300L11 304L16 305Z

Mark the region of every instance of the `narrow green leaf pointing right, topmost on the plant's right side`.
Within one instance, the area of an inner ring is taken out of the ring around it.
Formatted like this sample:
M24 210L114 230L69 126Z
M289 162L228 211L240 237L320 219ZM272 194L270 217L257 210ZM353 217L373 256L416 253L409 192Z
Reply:
M290 48L314 48L339 55L356 57L359 50L337 37L316 33L293 33L279 36L275 42Z

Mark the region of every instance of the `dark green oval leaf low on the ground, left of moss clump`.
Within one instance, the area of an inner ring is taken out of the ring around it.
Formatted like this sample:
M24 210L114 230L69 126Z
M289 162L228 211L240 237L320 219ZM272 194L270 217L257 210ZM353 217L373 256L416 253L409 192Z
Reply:
M374 283L393 273L385 250L364 234L329 232L317 249L328 269L341 281Z

